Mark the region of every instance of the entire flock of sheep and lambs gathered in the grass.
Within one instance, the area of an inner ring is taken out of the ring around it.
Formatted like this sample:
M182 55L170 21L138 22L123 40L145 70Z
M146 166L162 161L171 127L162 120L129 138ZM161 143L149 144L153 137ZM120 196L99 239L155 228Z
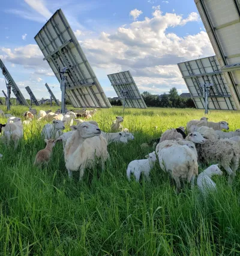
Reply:
M86 168L101 163L101 168L104 169L104 164L109 158L107 146L110 143L128 143L134 140L133 134L122 127L124 119L121 116L113 120L112 133L101 131L94 120L77 119L89 119L96 112L97 110L78 110L61 114L59 110L55 113L52 110L40 110L37 115L36 110L30 110L24 114L27 120L23 122L20 117L5 114L8 120L5 124L0 123L1 140L8 146L13 141L16 149L19 140L23 138L23 126L29 125L34 116L37 120L47 120L51 123L44 125L41 131L46 148L38 151L34 165L42 167L48 164L53 147L57 142L62 142L68 176L72 178L73 171L79 171L79 180L82 180ZM4 112L0 110L0 114L4 115ZM73 122L77 125L73 125ZM63 133L65 125L70 125L71 131ZM149 180L149 173L158 159L161 169L175 180L176 192L181 190L181 180L191 182L192 187L194 186L199 163L214 163L197 176L197 186L203 193L215 189L211 176L222 174L220 166L229 174L231 184L239 167L240 130L229 133L221 130L229 130L227 122L209 122L206 117L202 117L200 120L188 122L186 131L182 126L165 131L159 139L141 145L153 146L155 151L146 155L146 159L134 160L128 164L128 180L131 173L136 181L139 181L141 173ZM149 145L150 143L153 145Z

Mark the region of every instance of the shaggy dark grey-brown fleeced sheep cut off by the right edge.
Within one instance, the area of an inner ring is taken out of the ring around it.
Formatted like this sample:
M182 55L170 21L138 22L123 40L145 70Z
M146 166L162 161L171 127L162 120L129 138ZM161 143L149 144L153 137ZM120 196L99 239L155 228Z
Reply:
M194 133L199 134L198 132ZM233 178L236 176L235 172L239 166L240 148L238 143L233 140L221 139L206 140L205 143L199 145L196 140L194 141L194 136L190 136L188 139L196 143L196 149L202 161L207 164L215 162L223 166L229 174L229 184L232 184Z

